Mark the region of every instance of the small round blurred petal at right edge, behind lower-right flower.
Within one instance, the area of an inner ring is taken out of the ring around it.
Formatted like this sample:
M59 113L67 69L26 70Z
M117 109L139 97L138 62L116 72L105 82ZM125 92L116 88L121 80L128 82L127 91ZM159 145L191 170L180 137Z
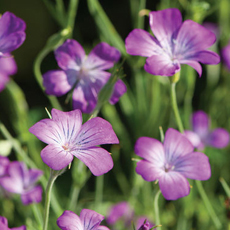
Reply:
M213 130L208 137L208 144L215 148L225 148L229 144L229 133L223 128Z

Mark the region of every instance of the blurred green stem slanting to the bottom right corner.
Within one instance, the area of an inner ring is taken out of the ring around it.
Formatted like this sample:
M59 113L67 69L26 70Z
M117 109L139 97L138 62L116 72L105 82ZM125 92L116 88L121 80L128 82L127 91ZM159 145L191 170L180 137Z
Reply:
M210 201L208 199L208 196L207 196L207 194L206 194L206 192L205 192L205 190L203 188L203 185L202 185L201 181L196 180L196 186L198 188L200 196L201 196L201 198L202 198L202 200L203 200L203 202L204 202L204 204L206 206L206 209L207 209L207 211L208 211L208 213L209 213L209 215L210 215L210 217L211 217L216 229L221 229L222 224L221 224L219 218L217 217L217 215L216 215L216 213L215 213L215 211L214 211L214 209L213 209L213 207L212 207L212 205L211 205L211 203L210 203Z

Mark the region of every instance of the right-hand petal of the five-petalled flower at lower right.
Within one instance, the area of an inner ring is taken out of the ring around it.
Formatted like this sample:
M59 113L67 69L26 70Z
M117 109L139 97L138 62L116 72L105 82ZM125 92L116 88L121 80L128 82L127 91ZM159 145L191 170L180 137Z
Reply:
M211 176L208 157L199 152L193 152L179 158L174 170L193 180L208 180Z

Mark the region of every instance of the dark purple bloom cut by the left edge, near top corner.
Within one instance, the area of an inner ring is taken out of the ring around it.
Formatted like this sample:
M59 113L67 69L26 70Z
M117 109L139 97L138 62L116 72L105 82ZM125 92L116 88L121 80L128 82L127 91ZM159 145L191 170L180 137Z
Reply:
M25 22L10 12L0 18L0 56L5 56L22 45L26 38Z

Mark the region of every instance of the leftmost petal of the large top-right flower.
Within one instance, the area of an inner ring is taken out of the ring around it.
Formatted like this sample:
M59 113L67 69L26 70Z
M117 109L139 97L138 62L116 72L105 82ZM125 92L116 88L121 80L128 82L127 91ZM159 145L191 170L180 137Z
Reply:
M128 54L150 57L162 52L158 41L142 29L134 29L125 39L125 47Z

